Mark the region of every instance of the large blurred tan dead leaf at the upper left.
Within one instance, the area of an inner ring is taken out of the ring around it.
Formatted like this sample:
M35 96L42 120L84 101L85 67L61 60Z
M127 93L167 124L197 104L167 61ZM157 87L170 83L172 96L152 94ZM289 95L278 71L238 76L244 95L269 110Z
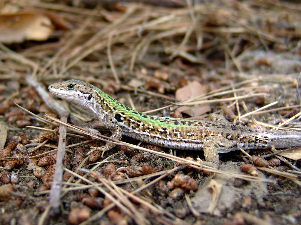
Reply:
M0 14L0 42L45 41L53 32L51 20L39 13Z

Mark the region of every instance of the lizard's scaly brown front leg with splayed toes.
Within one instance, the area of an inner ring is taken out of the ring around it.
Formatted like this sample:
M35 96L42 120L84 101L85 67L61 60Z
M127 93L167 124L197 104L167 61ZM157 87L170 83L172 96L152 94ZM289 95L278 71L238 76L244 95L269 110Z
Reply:
M120 140L121 137L122 137L122 130L121 130L121 128L118 125L113 124L110 121L99 121L96 124L92 124L92 126L93 126L93 128L106 128L106 129L110 130L110 132L112 133L112 135L111 135L110 138L112 138L112 139ZM113 144L113 143L106 142L106 144L104 146L90 147L91 150L87 153L87 155L90 155L95 150L99 150L99 151L102 151L101 157L103 157L104 153L107 150L110 150L110 149L112 149L115 146L116 145Z

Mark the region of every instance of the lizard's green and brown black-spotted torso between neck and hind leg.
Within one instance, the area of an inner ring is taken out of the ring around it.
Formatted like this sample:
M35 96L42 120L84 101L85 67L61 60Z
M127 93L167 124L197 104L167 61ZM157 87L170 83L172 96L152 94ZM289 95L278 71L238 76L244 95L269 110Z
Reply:
M171 149L201 150L203 140L208 136L237 139L237 136L223 132L229 127L232 131L237 130L230 123L149 116L127 107L98 88L96 92L102 102L101 107L109 112L105 120L119 125L124 135L143 142ZM219 134L210 132L212 128L219 130Z

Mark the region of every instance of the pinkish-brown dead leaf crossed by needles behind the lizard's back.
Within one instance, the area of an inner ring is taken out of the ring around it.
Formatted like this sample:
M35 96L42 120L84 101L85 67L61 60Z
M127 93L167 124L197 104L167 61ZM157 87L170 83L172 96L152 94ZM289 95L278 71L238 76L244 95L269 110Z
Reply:
M175 92L175 98L181 100L187 100L189 98L194 98L200 95L203 95L205 92L205 88L197 81L193 81L188 83L182 88L178 88ZM189 116L200 116L204 113L209 112L210 106L209 104L196 104L193 106L181 106L178 108L181 113L186 113Z

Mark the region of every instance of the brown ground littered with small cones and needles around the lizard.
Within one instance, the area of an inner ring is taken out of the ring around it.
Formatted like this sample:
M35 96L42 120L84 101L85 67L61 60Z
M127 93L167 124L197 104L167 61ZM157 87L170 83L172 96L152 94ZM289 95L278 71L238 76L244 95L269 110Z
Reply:
M54 82L84 80L140 112L167 106L150 115L220 115L254 128L300 129L300 4L147 3L3 1L2 11L21 11L10 12L14 20L0 14L8 27L0 34L0 224L301 224L300 149L278 158L273 149L247 152L270 154L262 167L240 151L219 154L219 171L208 174L198 161L203 152L178 150L173 157L150 145L132 149L126 143L139 142L128 137L91 162L85 154L103 142L68 130L60 200L49 193L59 170L51 150L63 138L45 116L60 118L53 100L95 121L50 95ZM32 15L51 18L45 40L30 39L24 33L39 29L16 22ZM194 103L186 108L173 104L188 98Z

